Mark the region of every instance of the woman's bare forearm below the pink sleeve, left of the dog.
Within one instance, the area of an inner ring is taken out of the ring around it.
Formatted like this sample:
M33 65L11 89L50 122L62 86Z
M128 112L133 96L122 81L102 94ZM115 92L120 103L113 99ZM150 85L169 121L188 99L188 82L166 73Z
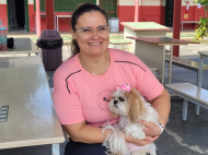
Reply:
M74 124L62 124L62 127L72 141L82 143L103 143L105 135L109 131L105 130L103 133L103 128L88 126L85 121Z

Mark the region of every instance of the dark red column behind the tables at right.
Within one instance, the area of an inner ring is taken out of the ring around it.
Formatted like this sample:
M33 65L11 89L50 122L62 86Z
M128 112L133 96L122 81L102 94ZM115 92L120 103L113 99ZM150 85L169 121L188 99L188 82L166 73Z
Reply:
M174 0L173 38L180 39L182 0ZM173 56L180 56L180 46L173 46Z

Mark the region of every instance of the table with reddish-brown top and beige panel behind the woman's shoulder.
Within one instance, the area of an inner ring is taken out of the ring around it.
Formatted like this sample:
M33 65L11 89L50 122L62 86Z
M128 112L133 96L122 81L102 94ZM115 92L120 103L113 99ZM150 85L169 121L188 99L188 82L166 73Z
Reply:
M165 64L165 46L171 47L169 83L172 76L172 55L174 45L199 44L189 40L175 39L169 37L127 37L136 40L135 55L140 58L147 65L157 68L161 75L161 83L164 84L164 64Z

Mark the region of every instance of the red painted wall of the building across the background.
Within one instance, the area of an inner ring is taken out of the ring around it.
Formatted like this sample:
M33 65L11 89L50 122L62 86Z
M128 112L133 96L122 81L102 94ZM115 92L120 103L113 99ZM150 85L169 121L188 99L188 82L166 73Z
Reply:
M8 10L7 4L0 4L0 20L3 25L8 27ZM44 12L42 12L44 13ZM55 12L58 14L72 14L72 12ZM185 17L185 14L186 17ZM139 7L139 21L141 22L157 22L159 24L164 24L165 20L165 7L151 7L151 5L140 5ZM199 21L200 16L205 16L205 10L201 7L200 9L197 5L190 5L189 11L185 11L185 5L182 5L181 21ZM135 5L118 5L118 17L119 22L134 22L135 21ZM35 11L34 4L28 4L28 19L30 19L30 32L35 32ZM41 17L42 31L46 28L46 19ZM69 32L71 27L70 17L59 17L59 31ZM194 29L196 24L184 24L184 29ZM123 31L124 27L119 25L119 31Z

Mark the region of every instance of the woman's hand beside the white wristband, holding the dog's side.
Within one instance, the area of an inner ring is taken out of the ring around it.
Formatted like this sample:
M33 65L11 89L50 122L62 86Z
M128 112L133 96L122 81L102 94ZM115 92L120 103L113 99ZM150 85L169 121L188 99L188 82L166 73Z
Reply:
M150 121L145 121L145 120L141 120L140 123L146 127L143 129L143 132L146 133L146 135L149 135L149 136L159 136L160 135L161 128L158 124L150 122Z

